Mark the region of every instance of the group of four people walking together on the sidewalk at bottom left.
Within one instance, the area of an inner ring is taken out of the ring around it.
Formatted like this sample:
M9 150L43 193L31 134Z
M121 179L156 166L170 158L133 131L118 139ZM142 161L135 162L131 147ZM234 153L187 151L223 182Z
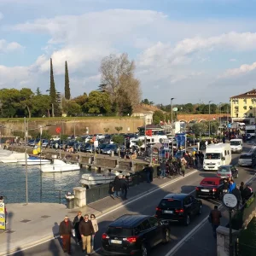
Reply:
M62 240L64 253L71 254L71 237L73 236L77 245L82 245L82 251L85 255L90 255L94 249L94 238L99 230L95 214L82 216L79 211L73 219L73 223L65 216L59 227L59 233Z

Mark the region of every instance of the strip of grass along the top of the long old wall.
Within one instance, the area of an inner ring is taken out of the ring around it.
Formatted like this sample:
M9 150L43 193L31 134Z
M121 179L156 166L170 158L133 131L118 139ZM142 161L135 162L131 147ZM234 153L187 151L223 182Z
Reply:
M85 116L85 117L45 117L45 118L26 118L27 121L73 121L73 120L89 120L89 119L140 119L131 116ZM0 122L24 122L24 118L0 118Z

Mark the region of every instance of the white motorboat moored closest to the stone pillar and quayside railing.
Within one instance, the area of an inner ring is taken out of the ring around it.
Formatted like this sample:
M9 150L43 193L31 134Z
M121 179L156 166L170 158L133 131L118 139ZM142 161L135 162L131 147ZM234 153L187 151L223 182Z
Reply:
M98 185L98 184L105 184L110 183L114 180L116 176L119 175L125 175L129 176L129 172L117 172L117 171L111 171L108 173L84 173L80 179L80 183L84 187L90 187L92 185Z

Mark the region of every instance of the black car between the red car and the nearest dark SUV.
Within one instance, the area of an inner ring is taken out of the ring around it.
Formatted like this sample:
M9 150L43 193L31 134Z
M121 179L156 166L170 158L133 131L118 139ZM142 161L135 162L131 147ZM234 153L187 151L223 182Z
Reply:
M156 208L155 217L178 221L186 226L190 218L201 214L202 202L189 194L168 194Z

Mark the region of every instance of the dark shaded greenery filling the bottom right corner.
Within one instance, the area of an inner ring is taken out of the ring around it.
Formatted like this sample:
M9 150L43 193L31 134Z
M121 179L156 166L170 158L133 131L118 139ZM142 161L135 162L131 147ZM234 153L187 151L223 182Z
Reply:
M239 255L256 255L256 218L253 218L239 236Z

